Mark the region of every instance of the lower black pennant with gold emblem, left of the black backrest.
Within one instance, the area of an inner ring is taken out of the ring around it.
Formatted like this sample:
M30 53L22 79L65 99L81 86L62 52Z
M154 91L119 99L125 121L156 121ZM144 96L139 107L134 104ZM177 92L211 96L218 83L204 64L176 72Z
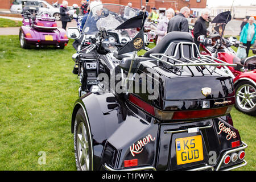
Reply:
M130 42L126 43L119 51L118 55L122 55L123 53L139 51L144 49L144 32L143 28L139 33L131 40Z

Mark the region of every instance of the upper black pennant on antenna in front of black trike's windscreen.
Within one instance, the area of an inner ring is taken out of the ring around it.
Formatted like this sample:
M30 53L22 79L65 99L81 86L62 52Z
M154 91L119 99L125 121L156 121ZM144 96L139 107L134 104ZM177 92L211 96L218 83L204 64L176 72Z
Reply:
M142 13L138 16L134 16L133 18L130 18L125 22L123 22L122 24L120 24L117 28L115 28L115 30L143 27L146 18L147 18L146 13ZM143 20L143 23L142 23L142 20Z

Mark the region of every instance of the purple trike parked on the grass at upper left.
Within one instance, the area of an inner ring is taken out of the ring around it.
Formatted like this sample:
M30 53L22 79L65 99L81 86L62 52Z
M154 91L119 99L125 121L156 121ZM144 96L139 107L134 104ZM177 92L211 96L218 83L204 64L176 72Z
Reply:
M39 12L38 7L25 6L22 12L23 26L19 30L20 46L55 46L63 49L68 44L66 31L58 28L55 18Z

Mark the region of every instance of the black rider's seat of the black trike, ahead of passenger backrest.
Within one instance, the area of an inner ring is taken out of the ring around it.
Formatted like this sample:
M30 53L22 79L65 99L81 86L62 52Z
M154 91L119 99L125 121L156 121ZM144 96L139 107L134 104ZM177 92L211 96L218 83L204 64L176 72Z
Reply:
M122 68L123 70L129 72L130 69L130 65L131 65L131 57L125 57L122 59L121 63L119 63L119 67ZM137 65L141 62L141 61L147 61L147 60L151 60L151 58L148 57L136 57L134 59L133 62L133 67L131 68L131 73L134 73L135 69L137 68Z

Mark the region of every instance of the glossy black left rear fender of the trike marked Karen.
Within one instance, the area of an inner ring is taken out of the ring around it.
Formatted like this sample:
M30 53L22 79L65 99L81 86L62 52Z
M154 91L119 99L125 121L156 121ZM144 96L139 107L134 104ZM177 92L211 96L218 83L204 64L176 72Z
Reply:
M112 98L114 102L107 102L107 98ZM80 107L82 107L84 113L88 117L93 142L93 166L96 170L98 169L98 166L100 166L101 155L106 140L123 122L118 107L115 109L108 109L108 105L111 104L115 104L115 97L112 93L88 93L75 102L72 113L72 133L74 131L76 113Z

